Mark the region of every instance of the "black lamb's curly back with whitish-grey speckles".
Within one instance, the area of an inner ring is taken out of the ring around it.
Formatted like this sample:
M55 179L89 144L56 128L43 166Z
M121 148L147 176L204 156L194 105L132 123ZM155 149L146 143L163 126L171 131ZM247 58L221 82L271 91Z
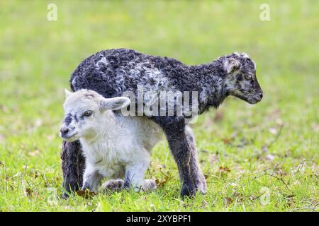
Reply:
M104 97L121 96L125 91L172 90L180 84L189 66L177 59L142 54L133 49L108 49L82 61L72 73L72 90L95 90Z

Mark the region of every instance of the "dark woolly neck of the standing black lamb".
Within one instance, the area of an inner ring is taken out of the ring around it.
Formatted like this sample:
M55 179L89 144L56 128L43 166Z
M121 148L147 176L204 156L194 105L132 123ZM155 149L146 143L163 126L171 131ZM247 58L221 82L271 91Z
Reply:
M222 59L216 59L209 64L190 66L192 90L198 90L198 109L203 113L210 107L217 108L225 97L224 89L226 72ZM191 85L191 84L190 84Z

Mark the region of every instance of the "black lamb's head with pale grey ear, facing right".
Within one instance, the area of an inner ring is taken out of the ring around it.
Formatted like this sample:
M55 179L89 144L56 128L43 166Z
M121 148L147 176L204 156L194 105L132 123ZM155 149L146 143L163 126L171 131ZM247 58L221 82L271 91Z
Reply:
M256 77L256 64L245 53L233 53L223 58L226 71L224 90L250 104L262 100L262 88Z

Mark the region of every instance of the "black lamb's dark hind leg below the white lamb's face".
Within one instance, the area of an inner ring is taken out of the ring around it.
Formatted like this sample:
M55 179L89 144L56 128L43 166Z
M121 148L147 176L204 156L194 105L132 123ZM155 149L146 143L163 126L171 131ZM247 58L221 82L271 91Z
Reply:
M82 186L85 157L79 141L62 143L61 166L63 174L63 198L67 198L71 191L77 191Z

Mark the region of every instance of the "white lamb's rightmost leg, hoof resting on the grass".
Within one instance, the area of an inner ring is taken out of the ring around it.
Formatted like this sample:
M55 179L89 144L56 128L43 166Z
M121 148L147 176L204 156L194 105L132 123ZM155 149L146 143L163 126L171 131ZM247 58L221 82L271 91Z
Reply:
M156 183L152 179L144 179L145 171L150 165L150 155L145 152L136 155L135 160L125 167L124 187L133 187L135 191L150 191L156 189Z

